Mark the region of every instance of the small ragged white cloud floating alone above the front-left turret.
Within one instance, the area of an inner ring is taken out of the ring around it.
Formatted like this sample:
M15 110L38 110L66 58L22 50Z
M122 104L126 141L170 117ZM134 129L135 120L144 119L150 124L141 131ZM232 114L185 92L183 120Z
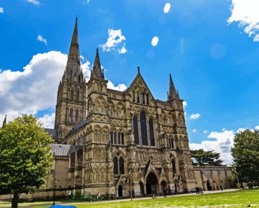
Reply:
M127 51L124 42L126 38L122 35L121 29L108 29L108 36L109 38L107 39L107 42L99 45L99 47L102 47L104 52L115 50L121 43L123 43L123 46L118 50L118 52L125 53Z

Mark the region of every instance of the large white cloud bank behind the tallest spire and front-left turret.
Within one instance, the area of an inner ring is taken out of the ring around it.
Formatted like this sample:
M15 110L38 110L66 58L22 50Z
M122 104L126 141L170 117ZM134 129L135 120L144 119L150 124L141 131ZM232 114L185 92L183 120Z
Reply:
M83 56L81 68L86 81L90 78L90 62ZM38 53L23 67L22 71L0 69L0 121L7 114L7 121L21 114L36 114L40 110L54 108L57 88L66 68L68 57L59 51ZM124 91L125 84L115 86L108 82L108 87ZM53 114L41 119L45 126L51 126ZM52 120L51 120L52 119ZM53 122L52 122L53 123Z

